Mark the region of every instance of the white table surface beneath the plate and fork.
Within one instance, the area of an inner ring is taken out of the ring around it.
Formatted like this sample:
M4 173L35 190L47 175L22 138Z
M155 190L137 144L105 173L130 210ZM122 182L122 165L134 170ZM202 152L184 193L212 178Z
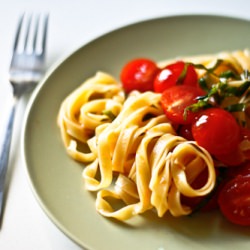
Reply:
M12 92L7 75L16 23L23 12L42 11L50 13L47 50L49 69L82 44L115 28L176 14L216 14L250 19L250 1L0 0L0 139L11 101ZM27 98L19 102L14 124L0 249L81 249L49 220L31 191L20 154L20 130L26 105Z

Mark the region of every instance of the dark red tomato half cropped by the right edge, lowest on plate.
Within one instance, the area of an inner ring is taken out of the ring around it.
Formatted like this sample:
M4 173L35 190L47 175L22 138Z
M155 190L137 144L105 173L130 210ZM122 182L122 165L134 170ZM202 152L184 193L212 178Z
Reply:
M219 193L222 214L232 223L250 226L250 174L237 175Z

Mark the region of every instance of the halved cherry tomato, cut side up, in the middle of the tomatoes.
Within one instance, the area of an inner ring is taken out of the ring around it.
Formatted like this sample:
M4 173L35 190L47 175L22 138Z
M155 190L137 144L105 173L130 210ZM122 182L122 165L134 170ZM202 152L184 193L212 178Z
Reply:
M161 103L168 119L177 124L192 123L196 114L187 111L184 116L184 111L186 107L196 103L196 98L200 95L200 89L187 85L176 85L166 89L162 93Z

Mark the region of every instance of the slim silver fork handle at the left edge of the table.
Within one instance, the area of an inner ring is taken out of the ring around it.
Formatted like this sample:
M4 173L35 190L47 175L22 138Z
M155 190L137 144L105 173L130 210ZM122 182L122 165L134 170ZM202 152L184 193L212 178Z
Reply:
M1 148L1 155L0 155L0 219L2 215L2 208L3 208L3 196L4 196L4 184L6 179L6 173L9 163L9 153L10 153L10 145L11 145L11 137L12 137L12 130L14 124L14 118L16 113L16 98L14 97L13 104L11 107L11 111L9 114L9 120L6 127L6 132Z

